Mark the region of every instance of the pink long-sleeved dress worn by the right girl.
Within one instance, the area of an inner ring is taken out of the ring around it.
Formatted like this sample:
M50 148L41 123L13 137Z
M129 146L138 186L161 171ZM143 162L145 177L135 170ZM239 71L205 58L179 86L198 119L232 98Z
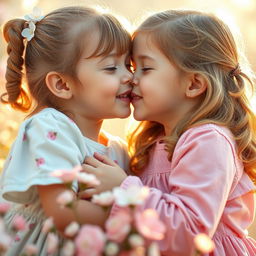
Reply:
M255 189L236 154L231 132L213 124L186 131L167 160L158 142L140 176L121 187L149 186L142 209L155 209L167 227L159 242L162 256L195 255L193 238L204 232L215 243L211 256L255 256L247 228L254 218ZM119 210L114 205L111 215Z

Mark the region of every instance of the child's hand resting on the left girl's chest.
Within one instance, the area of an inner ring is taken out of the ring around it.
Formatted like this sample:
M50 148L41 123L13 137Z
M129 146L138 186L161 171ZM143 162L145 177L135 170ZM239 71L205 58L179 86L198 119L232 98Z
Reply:
M82 167L84 172L94 174L100 181L100 185L79 192L78 197L82 199L112 190L127 177L125 171L118 164L99 153L94 153L94 157L87 157Z

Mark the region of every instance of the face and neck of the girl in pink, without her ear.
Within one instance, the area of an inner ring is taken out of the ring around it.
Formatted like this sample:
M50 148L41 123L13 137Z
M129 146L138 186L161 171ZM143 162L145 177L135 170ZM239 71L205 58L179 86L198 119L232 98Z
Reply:
M191 76L178 69L154 44L139 34L133 44L134 118L161 123L166 135L194 105L187 97Z

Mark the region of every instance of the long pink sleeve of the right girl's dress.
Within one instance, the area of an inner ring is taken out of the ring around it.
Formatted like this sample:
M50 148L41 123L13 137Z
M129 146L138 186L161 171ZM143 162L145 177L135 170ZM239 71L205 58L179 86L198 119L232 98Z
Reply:
M192 128L182 135L172 158L170 193L150 188L141 206L142 210L155 209L167 227L159 243L162 255L192 255L196 234L214 235L236 178L234 154L230 139L210 126ZM130 185L143 183L129 176L121 187ZM118 210L114 205L111 214Z

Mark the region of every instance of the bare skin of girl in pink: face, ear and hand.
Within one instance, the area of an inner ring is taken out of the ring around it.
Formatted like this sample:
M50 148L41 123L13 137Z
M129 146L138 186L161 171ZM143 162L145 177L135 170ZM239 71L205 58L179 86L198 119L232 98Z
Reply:
M201 100L207 81L197 73L185 73L178 69L154 44L147 34L139 33L133 42L134 78L132 104L134 118L138 121L161 123L165 135L170 135L177 123ZM88 157L84 171L94 173L101 185L80 194L83 198L119 186L126 178L114 178L122 169L111 163L107 156L95 154ZM110 181L111 180L111 181Z

